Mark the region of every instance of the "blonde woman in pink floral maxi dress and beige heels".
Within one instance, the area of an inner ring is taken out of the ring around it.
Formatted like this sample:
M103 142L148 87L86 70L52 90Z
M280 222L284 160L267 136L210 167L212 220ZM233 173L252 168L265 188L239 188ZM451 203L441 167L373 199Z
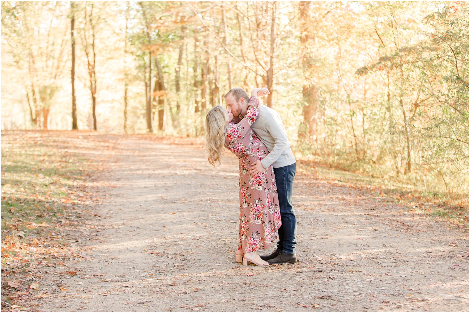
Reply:
M269 265L261 260L257 251L266 249L276 240L276 231L281 226L281 214L277 197L273 166L265 172L251 176L249 165L262 160L269 153L266 146L251 129L259 112L258 96L269 94L267 88L251 91L248 111L237 124L233 115L222 106L213 107L206 116L206 149L209 163L220 163L224 146L240 159L240 224L238 251L235 259L243 265L251 262L258 266Z

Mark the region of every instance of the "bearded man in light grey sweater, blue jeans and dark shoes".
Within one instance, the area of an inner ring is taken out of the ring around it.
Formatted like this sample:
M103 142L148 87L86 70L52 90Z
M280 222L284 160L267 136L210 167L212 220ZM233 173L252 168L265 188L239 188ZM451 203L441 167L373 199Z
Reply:
M233 88L224 98L228 111L232 112L234 117L238 117L234 119L235 122L246 115L250 98L245 90ZM251 129L266 145L269 154L261 161L250 164L252 167L249 171L252 175L258 175L273 164L282 220L282 226L278 230L279 241L276 251L269 255L261 255L261 259L270 264L295 263L297 262L295 254L297 220L292 209L292 185L297 169L296 160L290 149L281 117L276 111L261 105L258 118Z

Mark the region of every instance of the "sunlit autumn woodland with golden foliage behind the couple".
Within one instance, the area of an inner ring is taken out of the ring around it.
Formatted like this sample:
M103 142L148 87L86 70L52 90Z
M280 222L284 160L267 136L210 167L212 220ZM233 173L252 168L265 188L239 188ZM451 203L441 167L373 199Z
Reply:
M299 160L468 208L468 16L464 1L2 1L1 127L202 137L229 89L266 86Z

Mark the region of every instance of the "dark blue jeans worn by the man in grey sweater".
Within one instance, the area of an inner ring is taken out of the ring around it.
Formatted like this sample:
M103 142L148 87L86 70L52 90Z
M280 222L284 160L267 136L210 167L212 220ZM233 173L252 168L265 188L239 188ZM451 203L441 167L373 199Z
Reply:
M297 219L294 209L292 209L292 185L296 171L296 163L274 168L282 220L282 225L277 231L279 234L277 248L290 254L295 253L295 246L297 245Z

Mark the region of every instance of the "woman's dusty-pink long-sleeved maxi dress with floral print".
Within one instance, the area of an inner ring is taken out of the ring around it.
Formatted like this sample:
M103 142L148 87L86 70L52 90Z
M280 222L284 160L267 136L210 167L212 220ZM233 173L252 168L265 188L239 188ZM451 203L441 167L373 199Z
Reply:
M262 160L268 150L251 129L259 112L259 100L250 98L248 111L238 123L228 125L225 146L240 159L240 225L238 249L244 253L266 249L276 240L281 226L273 166L253 177L250 163Z

